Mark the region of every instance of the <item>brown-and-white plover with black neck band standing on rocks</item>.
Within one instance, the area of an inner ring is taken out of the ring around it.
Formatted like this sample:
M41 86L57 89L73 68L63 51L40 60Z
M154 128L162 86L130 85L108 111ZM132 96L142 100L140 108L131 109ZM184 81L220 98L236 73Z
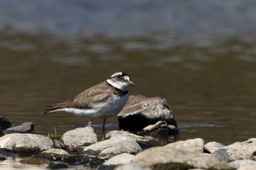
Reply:
M130 85L135 86L135 83L128 74L116 72L68 101L46 106L42 114L68 112L88 119L90 127L94 119L103 119L102 132L105 139L106 119L117 115L124 108L129 98Z

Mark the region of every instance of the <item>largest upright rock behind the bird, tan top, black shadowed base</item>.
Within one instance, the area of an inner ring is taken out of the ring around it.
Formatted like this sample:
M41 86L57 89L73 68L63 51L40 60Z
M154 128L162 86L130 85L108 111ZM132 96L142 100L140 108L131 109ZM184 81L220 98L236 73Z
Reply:
M126 106L118 114L119 128L127 131L141 131L159 120L177 127L170 106L160 97L129 96Z

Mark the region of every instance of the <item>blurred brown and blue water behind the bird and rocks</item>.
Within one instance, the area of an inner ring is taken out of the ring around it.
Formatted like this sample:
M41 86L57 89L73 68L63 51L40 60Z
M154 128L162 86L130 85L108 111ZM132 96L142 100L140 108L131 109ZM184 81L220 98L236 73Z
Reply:
M202 4L203 3L203 4ZM256 136L256 1L1 0L0 115L36 134L87 120L40 115L114 72L131 95L162 96L179 140L230 144ZM116 117L108 131L118 129ZM96 121L101 132L102 120Z

